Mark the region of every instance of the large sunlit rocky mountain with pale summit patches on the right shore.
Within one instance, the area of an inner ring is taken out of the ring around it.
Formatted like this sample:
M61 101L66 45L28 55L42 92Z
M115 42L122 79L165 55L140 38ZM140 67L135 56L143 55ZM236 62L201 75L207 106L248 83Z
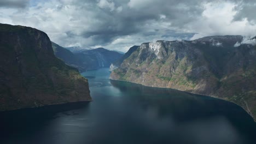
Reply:
M226 35L144 43L110 79L210 95L232 101L255 117L256 46L242 40Z

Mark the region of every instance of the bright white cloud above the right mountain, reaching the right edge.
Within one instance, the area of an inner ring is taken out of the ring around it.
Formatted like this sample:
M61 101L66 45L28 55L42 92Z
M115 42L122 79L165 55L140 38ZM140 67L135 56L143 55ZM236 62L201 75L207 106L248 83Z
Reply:
M253 35L256 25L247 19L234 21L236 4L230 2L211 2L205 4L205 10L197 21L186 24L189 32L195 32L191 40L208 35ZM194 30L193 30L194 29Z

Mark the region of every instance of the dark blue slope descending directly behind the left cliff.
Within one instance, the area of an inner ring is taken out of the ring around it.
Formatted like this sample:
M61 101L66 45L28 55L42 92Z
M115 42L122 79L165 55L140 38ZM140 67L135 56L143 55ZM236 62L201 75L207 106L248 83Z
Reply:
M74 55L74 53L60 45L55 44L54 42L51 42L51 45L53 46L54 55L57 58L60 58L66 64L70 65L71 67L77 68L80 71L86 70L86 68L80 67L80 65L82 65L82 62L78 57Z

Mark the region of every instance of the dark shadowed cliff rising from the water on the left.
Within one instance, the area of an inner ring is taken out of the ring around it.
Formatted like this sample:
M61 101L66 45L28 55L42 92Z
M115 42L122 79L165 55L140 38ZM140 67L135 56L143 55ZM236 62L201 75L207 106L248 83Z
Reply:
M90 101L88 80L37 29L0 24L0 111Z

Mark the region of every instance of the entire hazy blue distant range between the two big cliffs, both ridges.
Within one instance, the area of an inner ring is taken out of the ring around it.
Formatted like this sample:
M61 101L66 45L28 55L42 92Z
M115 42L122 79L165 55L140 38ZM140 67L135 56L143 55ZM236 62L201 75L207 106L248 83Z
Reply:
M52 42L55 56L62 59L66 64L71 65L79 71L90 69L108 68L111 63L117 61L123 54L104 49L80 49L77 51L69 51L65 47Z

